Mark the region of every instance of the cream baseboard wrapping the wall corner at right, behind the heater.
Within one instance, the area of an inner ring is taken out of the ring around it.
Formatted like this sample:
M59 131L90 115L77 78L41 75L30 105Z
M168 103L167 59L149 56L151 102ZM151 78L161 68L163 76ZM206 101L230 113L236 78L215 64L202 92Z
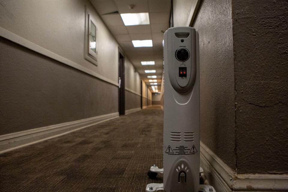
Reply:
M288 191L288 174L237 174L202 142L200 165L216 191Z

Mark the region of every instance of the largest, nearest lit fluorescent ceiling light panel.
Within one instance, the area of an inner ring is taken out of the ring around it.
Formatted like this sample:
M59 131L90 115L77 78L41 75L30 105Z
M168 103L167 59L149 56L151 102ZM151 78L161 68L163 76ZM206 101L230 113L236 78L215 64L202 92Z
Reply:
M122 13L120 14L125 26L149 25L149 13Z

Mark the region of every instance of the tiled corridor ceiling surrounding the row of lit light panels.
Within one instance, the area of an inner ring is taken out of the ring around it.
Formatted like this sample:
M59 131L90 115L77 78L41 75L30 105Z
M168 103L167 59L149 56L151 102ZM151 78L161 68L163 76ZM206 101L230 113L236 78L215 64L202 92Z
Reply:
M169 27L171 0L90 0L107 27L134 64L141 78L150 85L148 75L157 75L161 91L163 74L162 41ZM129 8L133 4L134 8ZM149 13L149 25L125 26L121 13ZM132 40L152 39L153 47L134 47ZM141 65L140 61L155 61L155 65ZM156 70L145 73L144 70Z

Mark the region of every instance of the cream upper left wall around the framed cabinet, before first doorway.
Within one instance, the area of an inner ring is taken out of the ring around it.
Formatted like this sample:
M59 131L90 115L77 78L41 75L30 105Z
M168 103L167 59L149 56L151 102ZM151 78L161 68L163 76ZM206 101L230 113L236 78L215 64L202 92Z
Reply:
M0 2L2 28L118 82L118 44L90 1ZM85 6L97 22L98 66L84 59Z

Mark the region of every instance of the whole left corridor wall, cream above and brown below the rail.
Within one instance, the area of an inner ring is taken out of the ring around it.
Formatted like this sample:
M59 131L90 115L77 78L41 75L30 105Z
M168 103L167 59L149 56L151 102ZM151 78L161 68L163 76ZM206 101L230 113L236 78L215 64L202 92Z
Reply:
M119 45L90 1L0 3L1 28L118 84ZM98 27L98 66L84 59L85 6ZM118 111L118 86L3 38L0 43L0 135ZM137 108L140 76L125 61L126 106Z

